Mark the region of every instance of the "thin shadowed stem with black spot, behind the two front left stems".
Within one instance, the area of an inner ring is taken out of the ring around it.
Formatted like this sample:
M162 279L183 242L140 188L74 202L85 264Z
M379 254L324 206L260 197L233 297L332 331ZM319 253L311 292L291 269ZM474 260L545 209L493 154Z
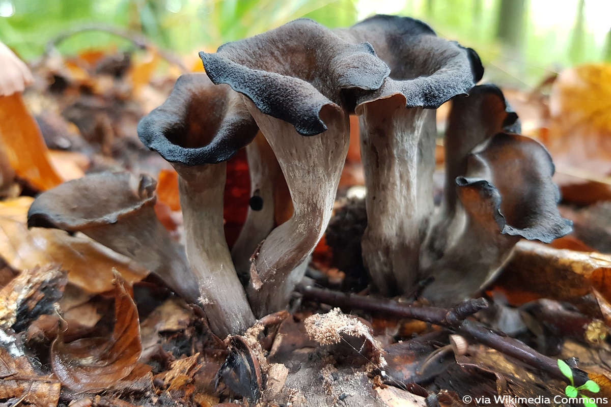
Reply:
M246 146L246 155L251 175L251 205L231 251L235 269L244 282L249 279L252 254L274 228L274 190L284 182L276 156L263 134L259 132Z

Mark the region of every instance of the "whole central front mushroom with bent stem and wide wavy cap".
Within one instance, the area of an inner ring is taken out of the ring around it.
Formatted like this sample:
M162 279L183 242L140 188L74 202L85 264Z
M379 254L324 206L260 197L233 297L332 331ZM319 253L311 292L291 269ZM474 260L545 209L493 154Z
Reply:
M389 69L368 43L348 43L310 20L200 57L214 83L243 95L293 200L293 217L274 229L253 257L247 292L255 315L262 316L285 308L304 272L298 266L329 222L354 92L379 88Z

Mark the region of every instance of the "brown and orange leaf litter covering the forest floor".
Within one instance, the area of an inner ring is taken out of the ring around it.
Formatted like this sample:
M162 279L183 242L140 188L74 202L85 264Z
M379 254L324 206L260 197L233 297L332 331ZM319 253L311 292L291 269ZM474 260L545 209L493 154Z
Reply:
M161 104L169 92L167 84L175 77L167 73L159 76L159 55L153 49L145 51L139 61L123 62L126 67L119 74L109 75L108 68L101 67L119 60L117 57L106 52L84 54L65 63L55 61L55 65L47 60L34 70L35 75L53 80L45 80L43 87L37 84L35 91L26 93L26 100L34 101L29 106L38 106L37 118L44 113L47 117L41 120L56 121L72 134L62 131L62 140L53 129L41 126L43 134L38 137L56 140L47 143L76 155L53 158L57 151L49 151L36 137L22 139L31 137L32 132L37 135L31 124L10 128L21 129L22 134L11 136L11 140L17 138L23 140L21 145L32 146L27 150L33 157L22 159L20 155L20 161L15 162L10 151L19 145L4 142L2 146L13 159L9 162L15 171L11 184L15 187L5 196L16 199L0 203L0 256L7 270L7 277L0 280L0 402L53 406L425 406L425 398L432 394L438 405L460 406L463 395L474 393L491 397L563 394L564 384L558 378L472 338L467 338L465 355L445 348L452 326L415 322L392 312L364 311L359 302L343 306L343 314L332 308L334 301L304 297L293 314L277 315L275 320L258 323L244 336L223 341L210 332L198 306L170 296L158 278L148 275L151 270L132 259L82 234L27 229L26 212L32 199L26 193L32 195L80 178L87 168L91 172L112 169L134 175L145 171L158 177L159 201L169 209L166 222L159 215L163 211L156 208L156 213L174 231L172 237L180 238L174 170L134 142L137 120ZM555 326L557 314L545 314L550 325L541 319L543 314L533 311L541 304L551 306L543 300L560 301L552 308L569 313L561 315L604 322L598 325L598 337L608 334L611 327L607 284L611 250L605 243L610 232L601 221L609 217L604 202L610 199L609 160L604 155L609 150L603 148L609 142L609 122L605 121L609 115L597 115L599 102L609 100L609 92L595 85L599 83L596 78L607 70L607 66L580 67L561 75L552 81L549 98L543 93L537 98L536 114L529 122L551 151L559 172L573 176L571 182L562 178L558 182L567 205L563 214L573 214L565 216L577 226L574 242L584 242L580 247L590 245L599 252L519 242L513 258L485 295L491 304L513 312L513 318L523 322L511 325L518 327L514 336L554 358L576 356L579 367L601 386L600 395L608 396L608 335L598 342L588 341ZM24 112L18 98L3 103ZM29 115L19 114L18 120L29 123ZM567 128L574 131L568 134L563 130ZM2 134L6 137L9 133L2 128ZM567 146L584 139L588 151L566 153L573 151ZM602 164L590 165L591 154ZM345 189L362 184L358 157L353 154L349 160L351 167L342 181ZM62 161L64 165L57 164ZM237 157L229 167L233 170L225 190L225 213L235 214L233 208L243 212L229 218L226 231L239 230L249 198L249 185L241 181L245 157ZM584 186L592 184L598 186ZM344 205L342 201L336 205L341 208L338 214ZM346 219L343 215L342 219L346 229L362 233L362 217ZM318 260L310 265L309 283L333 289L339 286L345 291L355 284L360 289L367 285L363 284L359 256L356 262L342 259L334 264L337 256L321 253L325 250L337 252L338 245L321 245ZM334 267L339 267L339 274ZM366 297L369 292L360 294ZM500 314L494 315L499 326ZM469 318L492 323L483 311ZM538 324L532 324L533 319L538 319Z

